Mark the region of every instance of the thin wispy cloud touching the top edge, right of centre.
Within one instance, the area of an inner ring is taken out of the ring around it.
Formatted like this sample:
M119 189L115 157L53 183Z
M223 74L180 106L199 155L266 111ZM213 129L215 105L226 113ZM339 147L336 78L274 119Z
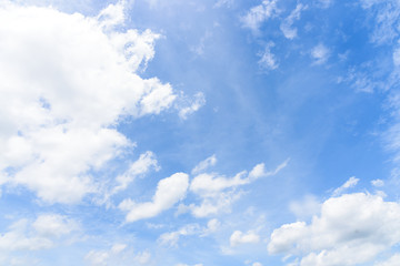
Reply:
M263 0L261 4L251 8L241 20L243 27L257 32L262 22L276 17L278 13L277 0Z

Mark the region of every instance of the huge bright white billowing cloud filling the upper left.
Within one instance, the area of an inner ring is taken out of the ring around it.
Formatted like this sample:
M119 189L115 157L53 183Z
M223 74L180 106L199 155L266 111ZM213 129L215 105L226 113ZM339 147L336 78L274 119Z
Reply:
M132 145L119 121L173 104L171 85L137 74L159 35L117 31L123 21L122 2L98 17L1 2L0 184L79 202L98 191L91 173Z

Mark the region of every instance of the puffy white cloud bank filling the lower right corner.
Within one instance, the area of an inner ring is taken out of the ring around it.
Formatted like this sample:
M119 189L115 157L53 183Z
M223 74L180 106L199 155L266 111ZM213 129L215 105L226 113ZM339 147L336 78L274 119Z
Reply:
M274 229L271 254L301 256L301 266L359 265L400 243L400 205L364 193L332 197L310 224Z

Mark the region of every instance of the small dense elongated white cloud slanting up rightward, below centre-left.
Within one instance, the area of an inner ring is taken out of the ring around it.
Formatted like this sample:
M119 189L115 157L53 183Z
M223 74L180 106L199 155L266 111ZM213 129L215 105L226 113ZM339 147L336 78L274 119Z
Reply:
M188 186L188 175L184 173L176 173L158 183L156 194L151 202L134 203L128 198L120 203L119 208L128 211L127 222L151 218L171 208L177 202L182 200Z

